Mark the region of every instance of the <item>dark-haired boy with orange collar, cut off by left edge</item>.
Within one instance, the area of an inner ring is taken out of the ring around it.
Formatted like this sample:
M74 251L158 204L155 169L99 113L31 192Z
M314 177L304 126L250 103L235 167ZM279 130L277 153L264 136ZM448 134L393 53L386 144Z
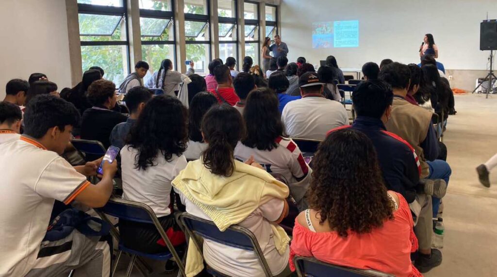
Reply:
M0 102L0 144L19 139L22 113L19 106Z

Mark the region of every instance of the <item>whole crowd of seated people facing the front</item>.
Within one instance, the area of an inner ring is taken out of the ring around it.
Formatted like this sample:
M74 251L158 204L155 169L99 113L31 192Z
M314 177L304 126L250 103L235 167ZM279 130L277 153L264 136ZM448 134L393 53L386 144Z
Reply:
M433 57L423 56L421 67L389 59L364 64L364 81L351 95L352 125L339 102L337 84L345 80L335 57L317 71L304 57L272 60L273 70L264 74L250 57L241 72L235 58L215 59L203 77L193 63L183 74L165 59L145 86L146 62L118 86L92 67L60 96L43 73L10 80L0 102L0 166L9 169L0 184L6 211L0 215L0 247L6 250L0 275L56 276L82 268L90 276L109 276L108 238L77 229L56 241L46 234L54 202L90 212L111 194L154 211L172 245L187 249L191 276L203 271L204 262L228 276L264 271L252 251L210 239L200 252L186 246L178 211L222 231L248 228L273 276L290 276L295 256L403 277L440 265L432 220L441 216L451 169L440 158L443 145L432 116L447 120L455 110ZM187 100L176 97L181 84ZM61 154L74 150L73 137L119 148L118 162L66 160ZM298 141L306 139L319 143L316 153L301 151ZM12 166L20 163L27 168ZM100 164L103 174L92 185L87 178ZM300 212L289 217L292 239L279 225L290 206ZM118 227L130 249L167 250L153 224L119 220ZM79 262L71 263L76 257ZM169 260L166 271L178 262Z

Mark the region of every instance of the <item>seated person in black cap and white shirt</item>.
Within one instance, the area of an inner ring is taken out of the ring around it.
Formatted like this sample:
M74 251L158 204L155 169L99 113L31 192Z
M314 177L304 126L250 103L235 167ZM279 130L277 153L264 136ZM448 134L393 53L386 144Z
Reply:
M281 115L290 138L323 140L329 130L348 124L343 105L325 98L318 74L304 73L299 85L302 99L288 103Z

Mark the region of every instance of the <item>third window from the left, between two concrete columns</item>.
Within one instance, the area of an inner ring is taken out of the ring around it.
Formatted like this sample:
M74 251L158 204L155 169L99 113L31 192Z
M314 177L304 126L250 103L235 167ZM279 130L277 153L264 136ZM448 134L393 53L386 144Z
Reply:
M206 75L211 61L208 0L185 0L186 60L193 61L195 73Z

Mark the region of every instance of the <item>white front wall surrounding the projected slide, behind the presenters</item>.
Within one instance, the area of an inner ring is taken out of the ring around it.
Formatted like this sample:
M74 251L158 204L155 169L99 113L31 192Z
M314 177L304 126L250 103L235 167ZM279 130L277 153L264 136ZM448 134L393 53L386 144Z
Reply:
M282 0L281 38L289 60L314 65L333 55L342 68L385 58L418 63L419 45L432 33L446 69L487 69L480 51L480 22L497 18L497 0ZM312 48L312 22L359 20L359 47Z

